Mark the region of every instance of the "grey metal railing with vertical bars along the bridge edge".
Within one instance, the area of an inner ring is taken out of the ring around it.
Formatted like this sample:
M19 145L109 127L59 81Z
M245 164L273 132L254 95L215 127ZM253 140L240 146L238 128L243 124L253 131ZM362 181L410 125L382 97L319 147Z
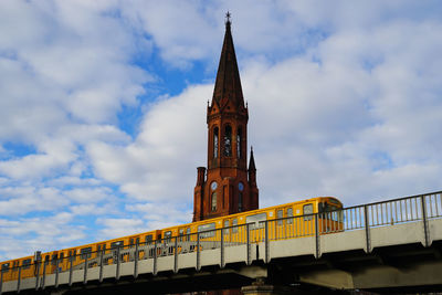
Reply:
M356 206L335 211L314 214L286 217L265 220L249 224L227 226L199 233L166 238L155 242L120 245L114 249L101 250L67 257L40 261L36 263L2 267L0 271L0 294L6 281L17 282L17 292L21 283L29 277L35 277L35 289L45 288L45 277L55 274L55 287L59 286L61 273L69 272L69 285L74 271L83 270L83 283L87 283L90 268L99 267L99 281L103 281L103 268L116 265L115 277L120 276L120 264L134 263L134 277L138 276L138 265L143 260L154 261L154 275L157 274L157 261L162 256L175 256L173 271L178 272L178 256L197 253L196 268L201 267L201 252L220 249L221 267L225 265L224 250L230 246L246 245L248 261L252 263L250 249L252 244L264 243L265 257L269 262L270 241L288 240L305 236L316 238L316 257L319 256L319 236L337 232L361 230L366 231L367 252L370 251L370 229L389 226L407 222L423 222L425 246L429 245L428 220L442 218L442 192L412 196L382 202ZM48 257L48 256L46 256Z

